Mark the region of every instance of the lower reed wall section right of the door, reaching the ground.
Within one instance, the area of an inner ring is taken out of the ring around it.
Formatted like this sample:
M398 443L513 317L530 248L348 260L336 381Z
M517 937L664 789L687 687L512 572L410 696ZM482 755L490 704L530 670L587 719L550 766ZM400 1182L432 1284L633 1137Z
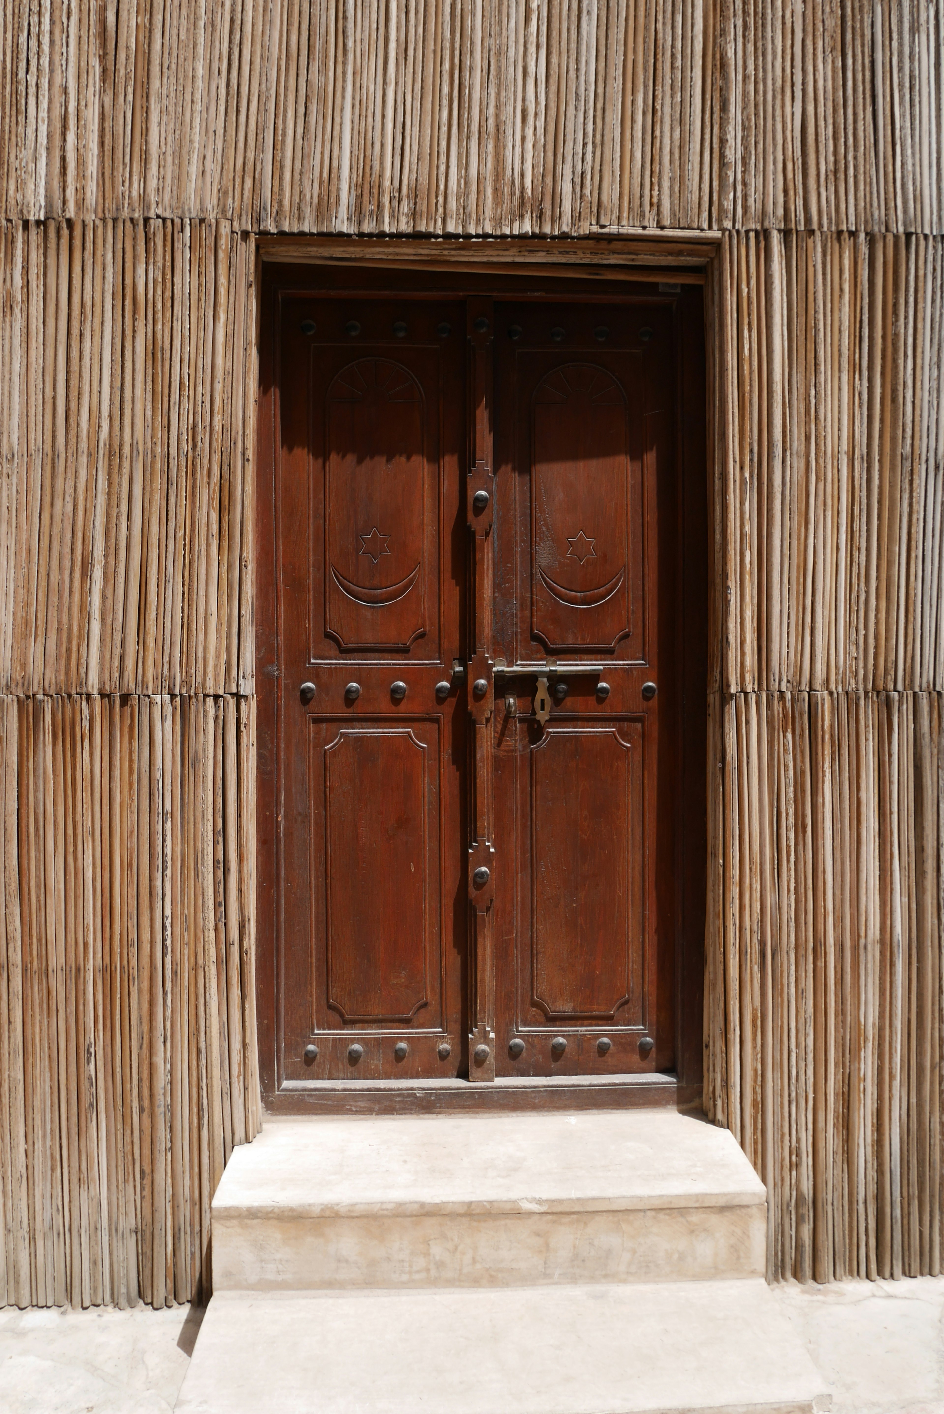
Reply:
M941 1270L937 693L712 699L706 1107L770 1275Z

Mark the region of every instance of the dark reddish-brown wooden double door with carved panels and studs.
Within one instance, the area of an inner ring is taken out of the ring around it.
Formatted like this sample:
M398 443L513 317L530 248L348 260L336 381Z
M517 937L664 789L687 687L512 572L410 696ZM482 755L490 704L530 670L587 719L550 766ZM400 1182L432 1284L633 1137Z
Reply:
M280 1089L671 1069L675 303L266 305Z

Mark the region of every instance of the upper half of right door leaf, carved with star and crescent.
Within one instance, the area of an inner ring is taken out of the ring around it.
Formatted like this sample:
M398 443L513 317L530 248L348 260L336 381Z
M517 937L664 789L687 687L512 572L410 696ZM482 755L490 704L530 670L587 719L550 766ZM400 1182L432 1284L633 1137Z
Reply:
M498 570L515 611L500 636L519 663L650 660L645 467L668 334L651 305L497 307L497 419L515 484Z

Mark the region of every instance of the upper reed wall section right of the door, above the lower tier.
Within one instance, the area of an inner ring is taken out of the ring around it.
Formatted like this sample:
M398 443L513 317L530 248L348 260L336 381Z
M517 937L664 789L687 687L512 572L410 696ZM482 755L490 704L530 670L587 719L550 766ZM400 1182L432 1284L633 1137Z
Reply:
M730 233L718 281L715 686L944 687L944 242Z

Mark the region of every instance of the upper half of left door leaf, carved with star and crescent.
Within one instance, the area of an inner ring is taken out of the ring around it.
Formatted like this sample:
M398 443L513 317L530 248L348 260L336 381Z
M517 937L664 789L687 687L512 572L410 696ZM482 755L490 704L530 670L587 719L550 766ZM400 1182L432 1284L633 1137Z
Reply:
M296 423L289 436L309 447L307 505L296 488L282 529L307 537L296 559L307 566L297 588L307 591L310 663L443 656L440 546L451 526L440 465L459 451L444 444L457 419L443 404L454 402L464 311L403 305L321 300L316 320L311 301L283 305L284 356L307 369L304 407L283 409Z

